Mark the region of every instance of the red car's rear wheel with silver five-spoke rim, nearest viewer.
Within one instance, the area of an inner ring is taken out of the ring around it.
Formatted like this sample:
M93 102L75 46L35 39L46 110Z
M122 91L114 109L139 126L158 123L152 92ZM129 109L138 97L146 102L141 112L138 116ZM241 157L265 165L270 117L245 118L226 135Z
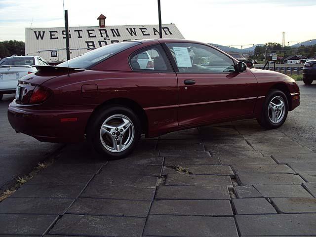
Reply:
M132 110L114 105L104 107L92 116L86 135L97 153L113 160L124 158L135 149L141 131L140 120Z

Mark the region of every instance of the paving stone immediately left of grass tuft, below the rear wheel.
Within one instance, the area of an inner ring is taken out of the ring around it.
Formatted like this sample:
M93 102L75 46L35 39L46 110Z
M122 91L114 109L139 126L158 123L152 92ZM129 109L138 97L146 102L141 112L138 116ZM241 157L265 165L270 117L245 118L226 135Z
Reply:
M100 173L114 175L144 175L144 176L160 176L161 165L129 165L109 163L102 167Z

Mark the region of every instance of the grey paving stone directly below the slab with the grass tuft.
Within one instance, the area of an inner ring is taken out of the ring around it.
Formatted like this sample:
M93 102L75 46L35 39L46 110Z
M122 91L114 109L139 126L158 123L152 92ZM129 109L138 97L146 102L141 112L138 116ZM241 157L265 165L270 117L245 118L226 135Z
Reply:
M221 175L189 175L189 174L168 174L166 185L180 186L230 186L233 187L229 176Z

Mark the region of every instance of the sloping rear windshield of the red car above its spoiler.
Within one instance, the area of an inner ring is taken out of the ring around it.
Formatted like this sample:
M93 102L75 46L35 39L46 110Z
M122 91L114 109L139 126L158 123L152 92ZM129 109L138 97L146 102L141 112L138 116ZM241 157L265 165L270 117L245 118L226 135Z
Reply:
M102 46L97 49L93 49L90 52L80 55L79 57L70 59L67 63L63 62L58 64L60 67L71 67L71 68L89 68L92 65L100 63L114 54L124 51L127 48L133 47L141 42L136 41L125 41L119 43L112 43Z

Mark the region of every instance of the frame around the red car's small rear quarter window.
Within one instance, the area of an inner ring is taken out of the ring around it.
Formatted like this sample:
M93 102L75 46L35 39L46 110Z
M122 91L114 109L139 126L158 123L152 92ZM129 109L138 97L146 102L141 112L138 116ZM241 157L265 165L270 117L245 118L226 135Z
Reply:
M131 65L131 59L139 54L139 53L142 53L142 52L146 52L148 51L149 49L148 48L152 48L152 47L157 47L161 50L161 53L162 55L160 55L163 60L165 61L166 63L166 66L167 66L167 71L162 71L162 70L150 70L150 69L133 69L132 65ZM132 72L137 72L137 73L175 73L174 72L174 68L172 66L172 63L167 55L167 52L166 50L163 48L163 46L161 45L161 43L155 43L155 44L152 44L152 45L148 45L148 46L145 46L143 48L140 48L134 52L132 52L129 56L128 56L128 65L131 69Z

